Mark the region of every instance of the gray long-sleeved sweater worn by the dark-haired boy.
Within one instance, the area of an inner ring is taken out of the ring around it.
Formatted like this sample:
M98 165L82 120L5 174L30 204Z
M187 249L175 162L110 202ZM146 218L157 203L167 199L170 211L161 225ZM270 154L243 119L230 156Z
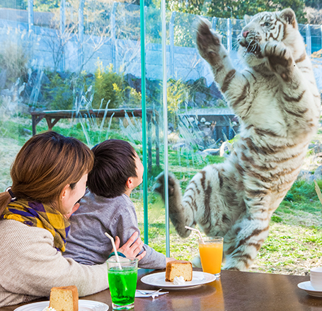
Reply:
M126 194L108 199L86 191L81 206L70 218L71 230L67 236L64 257L81 264L103 264L113 252L113 246L105 232L120 237L122 246L137 228L134 204ZM143 246L146 255L139 261L145 269L165 269L166 257L148 245ZM142 250L142 252L143 252Z

